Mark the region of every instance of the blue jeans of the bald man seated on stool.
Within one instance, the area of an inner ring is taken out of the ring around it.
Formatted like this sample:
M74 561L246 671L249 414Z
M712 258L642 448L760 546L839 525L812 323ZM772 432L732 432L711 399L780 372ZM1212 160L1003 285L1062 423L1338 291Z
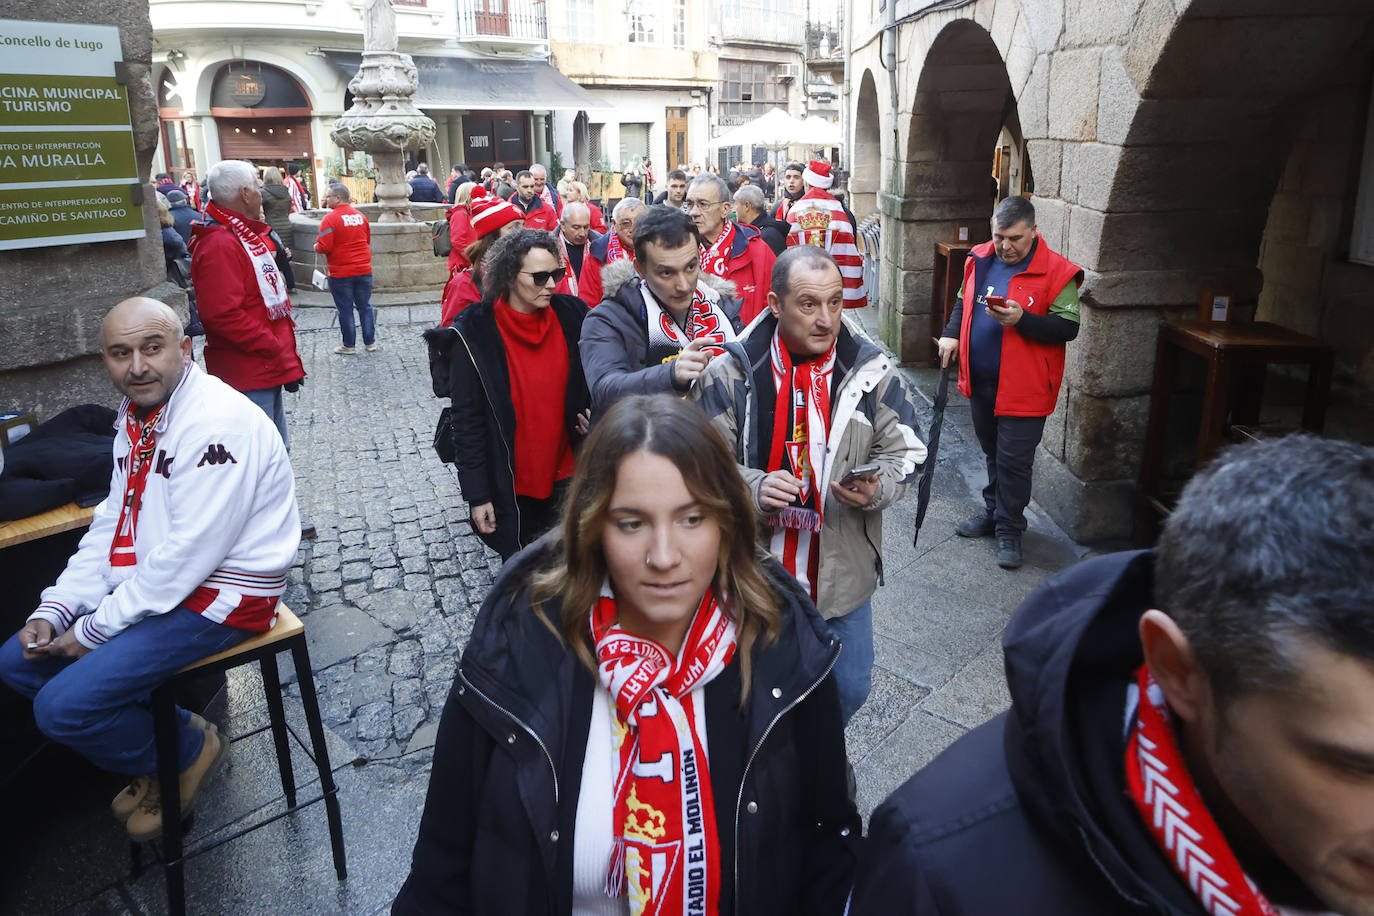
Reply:
M0 644L0 681L33 700L38 729L102 769L129 776L157 772L153 689L177 670L236 645L235 629L179 607L151 614L78 659L23 658L18 633ZM179 769L201 755L205 732L177 709Z

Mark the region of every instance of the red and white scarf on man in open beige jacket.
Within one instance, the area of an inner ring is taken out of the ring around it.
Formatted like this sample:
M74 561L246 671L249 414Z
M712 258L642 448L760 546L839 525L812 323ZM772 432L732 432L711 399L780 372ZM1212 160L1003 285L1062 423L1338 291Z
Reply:
M830 434L830 380L835 369L835 345L801 364L774 331L769 345L774 374L774 428L768 446L768 471L791 471L801 481L796 505L768 516L774 531L769 549L816 599L820 573L820 529L826 505L826 441Z

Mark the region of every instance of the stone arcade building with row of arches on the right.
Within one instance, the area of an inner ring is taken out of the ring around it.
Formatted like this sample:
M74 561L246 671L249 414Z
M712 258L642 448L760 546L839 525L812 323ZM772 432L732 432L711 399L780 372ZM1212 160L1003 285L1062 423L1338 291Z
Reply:
M1030 195L1087 271L1036 459L1068 531L1129 533L1158 323L1206 290L1330 343L1374 402L1366 0L852 0L848 19L849 188L882 214L901 358L930 358L934 244L987 239L998 196Z

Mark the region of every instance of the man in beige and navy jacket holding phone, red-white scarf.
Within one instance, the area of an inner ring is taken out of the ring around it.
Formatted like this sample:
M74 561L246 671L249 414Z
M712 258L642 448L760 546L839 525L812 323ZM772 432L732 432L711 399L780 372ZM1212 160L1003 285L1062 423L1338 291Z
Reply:
M834 258L787 249L768 310L712 360L691 397L734 446L768 549L844 641L834 670L848 722L872 685L882 509L915 482L926 446L897 367L842 314Z

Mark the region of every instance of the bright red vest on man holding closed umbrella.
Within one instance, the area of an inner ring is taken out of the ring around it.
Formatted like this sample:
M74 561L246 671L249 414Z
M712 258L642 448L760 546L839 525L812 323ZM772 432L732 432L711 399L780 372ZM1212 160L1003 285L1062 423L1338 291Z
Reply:
M1048 314L1055 297L1070 283L1083 283L1083 268L1050 250L1039 233L1035 257L1025 271L1007 283L1007 298L1033 314ZM969 375L969 328L973 310L980 262L987 272L989 258L995 258L992 242L973 249L963 262L963 321L959 325L959 391L973 397ZM998 372L998 401L992 412L998 416L1050 416L1059 398L1063 380L1063 345L1041 343L1024 336L1015 327L1002 331L1002 368Z

